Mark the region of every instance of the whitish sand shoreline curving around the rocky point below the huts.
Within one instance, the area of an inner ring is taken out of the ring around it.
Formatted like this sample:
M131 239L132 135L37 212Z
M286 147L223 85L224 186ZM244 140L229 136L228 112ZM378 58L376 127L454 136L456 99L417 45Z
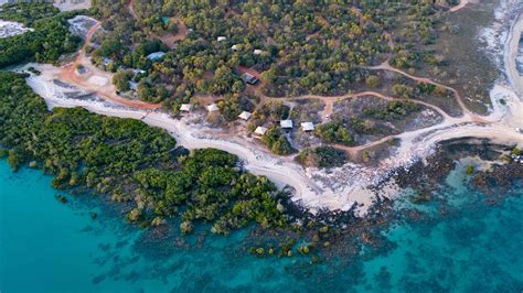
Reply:
M503 53L506 55L506 47ZM83 107L100 115L131 118L159 127L173 135L181 145L188 149L215 148L237 155L245 170L256 175L267 176L279 187L286 185L295 189L292 200L300 206L317 213L321 209L349 210L356 208L359 215L365 215L376 196L393 198L397 191L388 188L376 193L375 185L387 181L398 170L408 169L418 161L433 154L438 143L463 137L491 139L497 143L516 143L523 145L523 133L515 129L523 128L523 104L505 85L499 83L490 93L493 109L484 117L485 122L477 122L470 113L459 118L446 117L436 126L407 131L396 135L401 145L394 153L382 160L377 166L364 166L348 163L342 167L322 171L303 169L291 158L280 158L253 143L244 137L220 135L220 130L195 126L190 119L171 118L160 110L143 110L117 105L113 100L95 98L93 100L68 98L67 94L84 93L93 95L93 89L84 88L83 84L60 86L64 67L52 65L28 64L19 70L33 66L42 72L41 76L31 74L26 79L33 90L42 96L49 108ZM74 73L73 73L74 74ZM67 79L68 80L68 79ZM74 80L73 80L74 82ZM76 86L76 87L75 87ZM505 105L502 105L501 99ZM129 101L131 105L132 101ZM357 204L357 207L356 207Z

